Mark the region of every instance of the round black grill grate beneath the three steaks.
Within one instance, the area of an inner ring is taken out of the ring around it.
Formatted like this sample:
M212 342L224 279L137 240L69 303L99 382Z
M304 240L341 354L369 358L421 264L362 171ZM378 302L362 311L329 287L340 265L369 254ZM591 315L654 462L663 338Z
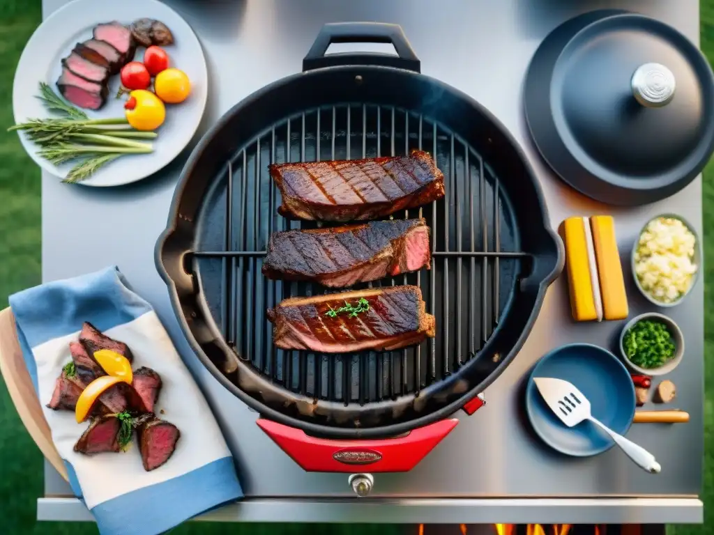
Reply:
M436 316L436 338L403 350L348 355L274 347L266 308L286 297L328 290L307 282L271 281L261 273L271 233L318 225L277 214L280 192L268 163L401 156L415 148L436 159L446 198L393 217L426 219L431 270L356 287L420 286L426 310ZM442 124L400 108L344 105L292 116L241 148L228 161L220 187L226 210L211 217L223 218L222 244L193 253L201 270L221 272L222 289L207 293L208 308L239 358L273 382L316 401L367 404L418 395L481 357L479 351L516 290L523 260L530 256L520 251L511 205L481 156ZM203 243L220 242L213 236Z

